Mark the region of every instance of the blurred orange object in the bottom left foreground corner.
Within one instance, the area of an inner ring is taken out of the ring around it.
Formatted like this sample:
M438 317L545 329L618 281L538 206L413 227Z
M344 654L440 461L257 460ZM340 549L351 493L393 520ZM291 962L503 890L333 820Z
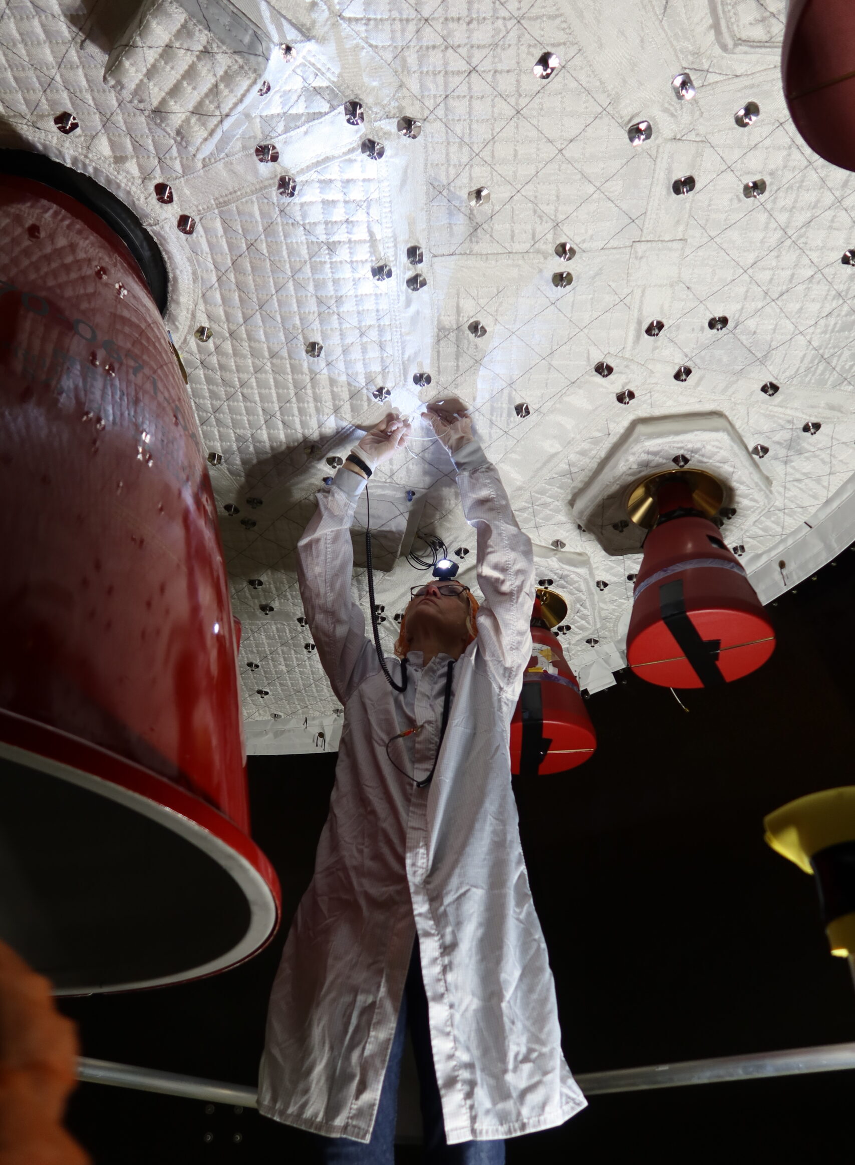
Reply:
M89 1165L62 1127L77 1036L50 983L0 942L0 1165Z

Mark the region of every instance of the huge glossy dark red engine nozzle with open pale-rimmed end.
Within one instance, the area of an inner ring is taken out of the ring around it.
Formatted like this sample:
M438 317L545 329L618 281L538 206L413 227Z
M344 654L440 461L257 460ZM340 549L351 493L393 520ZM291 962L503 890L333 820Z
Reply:
M100 214L0 172L0 938L65 994L213 974L280 890L182 368Z

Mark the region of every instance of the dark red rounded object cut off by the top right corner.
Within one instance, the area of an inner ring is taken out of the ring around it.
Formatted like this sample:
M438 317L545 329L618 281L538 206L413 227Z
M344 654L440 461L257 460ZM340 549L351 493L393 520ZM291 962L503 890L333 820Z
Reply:
M790 0L780 71L790 116L811 149L855 170L852 0Z

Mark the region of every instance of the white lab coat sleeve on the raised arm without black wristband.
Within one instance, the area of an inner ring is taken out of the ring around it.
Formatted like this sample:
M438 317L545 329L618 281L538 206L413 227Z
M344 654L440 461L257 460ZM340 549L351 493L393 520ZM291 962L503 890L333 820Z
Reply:
M454 453L464 514L478 535L478 582L485 602L478 637L499 683L515 687L531 658L535 559L499 471L478 442Z

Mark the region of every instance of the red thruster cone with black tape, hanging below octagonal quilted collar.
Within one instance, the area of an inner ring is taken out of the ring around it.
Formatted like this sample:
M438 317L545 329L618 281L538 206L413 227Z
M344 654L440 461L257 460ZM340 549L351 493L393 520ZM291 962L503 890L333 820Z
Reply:
M712 687L747 676L775 650L775 631L746 571L688 486L659 485L658 524L644 542L627 662L664 687Z

